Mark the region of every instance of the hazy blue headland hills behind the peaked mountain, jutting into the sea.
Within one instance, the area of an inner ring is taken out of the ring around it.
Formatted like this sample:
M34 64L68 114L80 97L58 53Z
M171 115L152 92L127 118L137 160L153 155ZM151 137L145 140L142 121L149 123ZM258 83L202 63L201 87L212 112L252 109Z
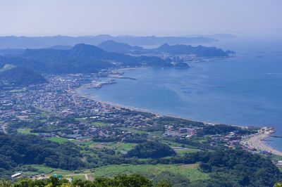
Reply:
M98 45L101 49L108 52L128 53L128 54L161 54L168 53L171 55L190 55L195 54L199 57L221 57L228 56L228 51L217 49L216 47L206 46L186 46L186 45L168 45L167 43L159 46L156 49L144 49L140 46L130 46L128 44L119 43L113 40L104 41Z

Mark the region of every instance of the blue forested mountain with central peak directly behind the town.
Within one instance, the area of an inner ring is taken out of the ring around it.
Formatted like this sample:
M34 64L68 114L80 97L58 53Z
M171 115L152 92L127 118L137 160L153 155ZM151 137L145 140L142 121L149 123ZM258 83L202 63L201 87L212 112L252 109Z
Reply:
M78 44L71 50L26 49L20 56L0 56L2 65L28 66L43 73L90 73L111 67L172 67L169 60L109 53L97 46Z

